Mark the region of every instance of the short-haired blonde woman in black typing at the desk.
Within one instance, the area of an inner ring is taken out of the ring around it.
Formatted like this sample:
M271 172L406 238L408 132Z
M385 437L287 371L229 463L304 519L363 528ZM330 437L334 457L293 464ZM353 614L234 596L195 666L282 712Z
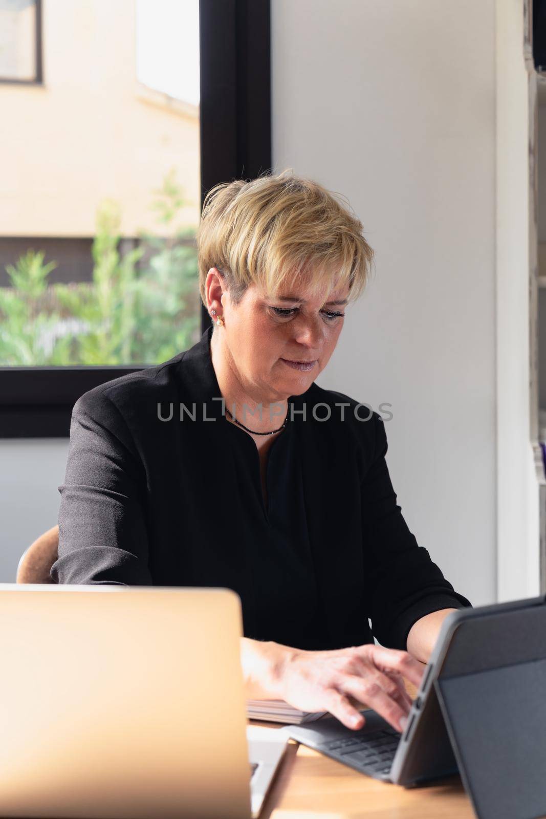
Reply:
M213 188L197 245L214 324L74 405L52 577L228 586L249 698L402 730L403 677L470 603L404 522L381 416L315 383L368 278L362 224L285 171Z

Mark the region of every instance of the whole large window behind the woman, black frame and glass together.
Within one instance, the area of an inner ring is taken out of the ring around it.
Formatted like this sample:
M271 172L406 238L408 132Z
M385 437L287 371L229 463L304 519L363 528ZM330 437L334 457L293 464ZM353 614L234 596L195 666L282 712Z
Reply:
M271 164L268 0L74 5L45 6L40 99L0 88L29 134L0 133L0 437L68 436L84 391L198 340L205 192Z

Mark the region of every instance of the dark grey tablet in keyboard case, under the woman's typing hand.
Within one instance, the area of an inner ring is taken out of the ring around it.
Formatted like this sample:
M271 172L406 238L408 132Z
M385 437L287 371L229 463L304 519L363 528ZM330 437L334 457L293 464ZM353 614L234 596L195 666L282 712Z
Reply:
M546 597L444 619L400 735L371 709L288 726L292 739L405 787L460 773L478 817L546 813ZM525 795L521 795L525 794Z

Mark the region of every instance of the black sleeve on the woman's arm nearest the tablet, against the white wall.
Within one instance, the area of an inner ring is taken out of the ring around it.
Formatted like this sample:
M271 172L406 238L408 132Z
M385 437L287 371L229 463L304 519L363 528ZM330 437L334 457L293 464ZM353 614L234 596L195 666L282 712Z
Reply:
M362 483L368 617L381 645L405 651L414 622L439 609L472 604L453 590L409 531L390 482L385 424L377 413L374 423L375 453Z

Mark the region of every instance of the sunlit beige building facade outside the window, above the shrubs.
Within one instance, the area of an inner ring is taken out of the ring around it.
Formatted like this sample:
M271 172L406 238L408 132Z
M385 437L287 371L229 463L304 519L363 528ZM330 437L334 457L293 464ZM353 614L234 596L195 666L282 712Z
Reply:
M0 236L93 237L105 198L124 236L159 233L151 201L172 169L178 224L198 224L199 106L138 82L136 13L136 0L43 0L43 84L0 84Z

